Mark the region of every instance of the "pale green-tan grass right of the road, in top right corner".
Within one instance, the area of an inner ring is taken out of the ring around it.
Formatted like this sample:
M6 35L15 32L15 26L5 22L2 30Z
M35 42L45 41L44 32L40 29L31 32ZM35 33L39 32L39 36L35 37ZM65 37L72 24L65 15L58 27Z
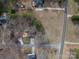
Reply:
M79 13L77 3L74 0L68 0L68 13L69 14Z

